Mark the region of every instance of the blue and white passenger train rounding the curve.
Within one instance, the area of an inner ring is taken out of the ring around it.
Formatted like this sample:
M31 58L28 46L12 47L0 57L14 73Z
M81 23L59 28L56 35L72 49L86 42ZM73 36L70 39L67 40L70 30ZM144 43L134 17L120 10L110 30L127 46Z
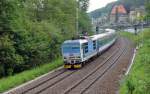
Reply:
M100 55L115 43L116 31L105 29L105 33L66 40L61 45L64 68L82 68L91 58Z

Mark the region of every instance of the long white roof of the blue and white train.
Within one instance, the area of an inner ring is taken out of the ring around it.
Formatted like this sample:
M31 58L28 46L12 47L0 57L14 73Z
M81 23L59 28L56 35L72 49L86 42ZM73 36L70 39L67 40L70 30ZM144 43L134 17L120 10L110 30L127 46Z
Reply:
M79 44L83 44L88 42L89 40L97 40L99 38L103 38L105 36L109 36L110 34L115 33L115 30L112 29L105 29L105 31L108 31L106 33L103 34L97 34L97 35L93 35L90 37L85 37L85 39L76 39L76 40L66 40L63 44L67 44L67 43L79 43Z

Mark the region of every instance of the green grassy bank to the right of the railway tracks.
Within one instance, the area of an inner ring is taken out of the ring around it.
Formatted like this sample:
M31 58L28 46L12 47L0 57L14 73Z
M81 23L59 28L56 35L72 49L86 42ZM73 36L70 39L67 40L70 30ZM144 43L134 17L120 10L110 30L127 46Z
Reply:
M143 43L136 53L129 75L121 81L120 94L150 94L150 29L137 36L128 32L121 32L120 35L136 45Z

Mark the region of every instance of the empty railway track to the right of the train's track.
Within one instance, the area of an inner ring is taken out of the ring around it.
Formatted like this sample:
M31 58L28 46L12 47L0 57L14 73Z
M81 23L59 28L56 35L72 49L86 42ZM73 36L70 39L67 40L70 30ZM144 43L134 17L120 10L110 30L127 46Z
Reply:
M65 90L62 94L76 94L76 93L71 92L76 87L79 88L79 89L81 89L81 90L74 90L74 92L79 91L77 94L83 94L86 90L88 90L88 88L90 88L90 86L92 86L98 79L100 79L104 74L106 74L109 71L109 69L112 68L117 63L117 60L125 53L125 51L127 51L127 48L123 48L123 49L120 49L120 50L121 51L119 52L119 54L116 55L115 57L114 57L114 55L117 54L118 51L114 51L114 53L112 53L111 56L109 56L103 62L102 65L96 67L95 70L93 70L91 73L89 73L88 75L86 75L83 79L81 79L80 81L78 81L76 84L74 84L73 86L71 86L70 88L68 88L67 90ZM115 59L111 60L111 63L109 63L109 60L111 58L115 58ZM103 67L106 63L109 63L109 64L108 64L108 66L105 69L101 70L103 72L100 75L97 75L97 77L93 76L93 74L95 74L99 69L101 69L101 67ZM87 80L90 76L96 77L96 78L95 79L91 78L92 80L88 81L89 82L88 85L81 85L84 82L84 80ZM82 89L81 86L84 86L84 88Z

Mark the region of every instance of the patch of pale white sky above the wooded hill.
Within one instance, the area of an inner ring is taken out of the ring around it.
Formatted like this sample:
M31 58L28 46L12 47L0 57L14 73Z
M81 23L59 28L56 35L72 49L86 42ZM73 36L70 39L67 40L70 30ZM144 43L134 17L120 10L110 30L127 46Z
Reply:
M117 1L117 0L90 0L90 6L88 12L93 11L98 8L106 6L108 3Z

